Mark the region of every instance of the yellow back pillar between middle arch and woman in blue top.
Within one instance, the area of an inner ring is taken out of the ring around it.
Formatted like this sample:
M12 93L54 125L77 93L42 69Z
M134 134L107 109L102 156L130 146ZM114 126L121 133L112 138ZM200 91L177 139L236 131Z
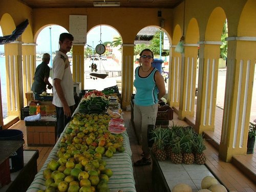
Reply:
M122 108L130 105L134 81L134 44L122 45Z

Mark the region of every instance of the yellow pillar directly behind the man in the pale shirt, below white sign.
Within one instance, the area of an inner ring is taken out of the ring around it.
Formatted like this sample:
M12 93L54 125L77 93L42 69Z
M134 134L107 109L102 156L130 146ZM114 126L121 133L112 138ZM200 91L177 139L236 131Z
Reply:
M73 44L73 81L81 82L84 89L84 45ZM79 96L79 95L78 95Z

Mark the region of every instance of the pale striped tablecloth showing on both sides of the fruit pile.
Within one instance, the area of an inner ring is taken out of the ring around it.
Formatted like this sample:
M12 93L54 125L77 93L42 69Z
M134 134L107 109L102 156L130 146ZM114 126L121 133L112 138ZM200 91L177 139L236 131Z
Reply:
M79 109L76 109L74 112L77 113ZM68 126L68 125L67 125ZM67 129L65 127L65 130ZM60 138L64 135L65 130L60 135ZM123 146L125 151L122 153L115 153L112 158L107 158L105 156L102 157L106 161L106 168L111 168L113 172L113 176L110 178L108 182L108 186L111 192L116 192L118 190L124 191L131 191L135 192L135 180L133 176L133 164L132 164L132 150L129 142L129 137L127 132L125 131L122 133L123 136ZM44 170L47 168L48 163L52 159L58 159L57 152L58 152L58 144L60 143L60 138L58 139L57 143L54 145L52 151L50 152L46 162L42 166L41 170L36 174L33 182L29 186L27 192L35 192L39 189L45 189L45 178L43 176Z

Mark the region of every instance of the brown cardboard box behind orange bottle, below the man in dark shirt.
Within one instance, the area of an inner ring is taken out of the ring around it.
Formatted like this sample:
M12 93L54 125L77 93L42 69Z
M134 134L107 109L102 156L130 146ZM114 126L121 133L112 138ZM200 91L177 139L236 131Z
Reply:
M56 115L56 108L52 101L30 101L29 102L29 115L36 115L36 104L40 105L41 115Z

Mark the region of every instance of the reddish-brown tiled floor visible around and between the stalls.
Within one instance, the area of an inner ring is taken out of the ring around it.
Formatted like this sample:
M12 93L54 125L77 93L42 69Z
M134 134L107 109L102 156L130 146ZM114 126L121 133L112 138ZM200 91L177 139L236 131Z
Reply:
M123 118L125 120L125 125L127 127L127 133L130 138L130 144L132 148L132 160L137 161L141 158L141 147L138 145L132 123L130 121L131 113L124 112ZM174 114L174 121L181 124L186 124L184 121L178 120L177 115ZM217 122L216 122L217 123ZM10 129L19 129L24 133L24 140L27 141L26 126L24 121L19 121L14 124ZM215 134L215 133L213 133ZM218 137L218 135L216 136ZM220 138L220 137L219 137ZM238 192L253 192L256 191L255 182L253 183L249 178L245 177L237 167L231 163L225 163L218 158L218 151L212 147L210 144L206 143L207 150L205 150L205 155L207 157L206 165L212 171L220 181L229 189L236 190ZM44 164L46 158L48 157L52 147L28 147L25 149L33 149L39 151L39 158L37 160L38 170ZM255 153L249 156L243 157L243 160L248 164L251 164L255 168ZM152 165L143 167L133 167L134 168L134 178L136 181L136 190L138 192L150 192L153 190L152 185ZM181 180L182 182L182 180ZM157 191L158 192L158 191Z

